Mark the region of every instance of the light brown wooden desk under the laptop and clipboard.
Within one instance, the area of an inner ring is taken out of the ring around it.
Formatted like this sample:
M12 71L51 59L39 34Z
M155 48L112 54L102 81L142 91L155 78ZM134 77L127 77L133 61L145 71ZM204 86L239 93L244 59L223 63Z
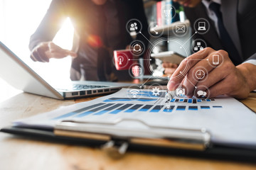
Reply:
M58 101L52 98L17 92L0 103L0 128L18 118L52 111L60 106L87 101L85 98ZM256 94L243 100L256 111ZM0 133L0 169L256 169L255 164L196 159L173 155L127 152L122 159L114 160L98 148L32 140Z

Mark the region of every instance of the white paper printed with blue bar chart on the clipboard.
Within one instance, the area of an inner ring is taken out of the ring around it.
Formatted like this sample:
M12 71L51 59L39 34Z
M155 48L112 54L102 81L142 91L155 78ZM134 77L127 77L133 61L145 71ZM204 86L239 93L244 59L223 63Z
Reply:
M215 142L252 145L256 148L256 114L235 98L175 97L166 101L166 91L157 92L122 89L109 96L18 120L14 125L54 128L63 121L116 123L119 120L119 123L114 124L116 128L132 130L150 130L150 126L205 128ZM136 120L149 126L146 127Z

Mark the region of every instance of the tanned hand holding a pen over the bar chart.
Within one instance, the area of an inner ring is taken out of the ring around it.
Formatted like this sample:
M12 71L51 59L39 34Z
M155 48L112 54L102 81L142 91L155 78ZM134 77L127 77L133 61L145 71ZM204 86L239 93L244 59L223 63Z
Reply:
M220 56L216 65L213 64L213 55ZM206 71L203 79L195 75L202 68ZM180 84L185 87L188 97L201 90L208 91L208 98L222 94L246 98L250 91L256 89L256 66L245 63L235 67L227 52L207 47L183 60L167 87L173 91Z

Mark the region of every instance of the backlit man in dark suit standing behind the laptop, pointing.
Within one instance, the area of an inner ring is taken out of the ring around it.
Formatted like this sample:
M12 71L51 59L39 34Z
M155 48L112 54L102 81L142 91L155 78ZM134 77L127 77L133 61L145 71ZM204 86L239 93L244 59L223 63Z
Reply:
M71 51L52 42L67 17L75 28ZM142 22L142 33L148 37L142 0L53 0L43 21L31 35L31 59L49 62L50 58L72 56L71 80L130 79L128 71L115 69L112 55L113 50L125 49L132 42L126 30L127 21L132 18ZM146 45L141 34L137 39Z

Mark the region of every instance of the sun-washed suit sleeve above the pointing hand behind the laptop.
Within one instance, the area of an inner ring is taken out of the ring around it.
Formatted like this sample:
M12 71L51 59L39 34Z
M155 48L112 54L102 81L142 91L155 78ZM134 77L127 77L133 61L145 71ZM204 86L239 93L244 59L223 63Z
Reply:
M53 40L66 17L65 1L53 0L36 32L31 35L29 49L32 51L40 42Z

